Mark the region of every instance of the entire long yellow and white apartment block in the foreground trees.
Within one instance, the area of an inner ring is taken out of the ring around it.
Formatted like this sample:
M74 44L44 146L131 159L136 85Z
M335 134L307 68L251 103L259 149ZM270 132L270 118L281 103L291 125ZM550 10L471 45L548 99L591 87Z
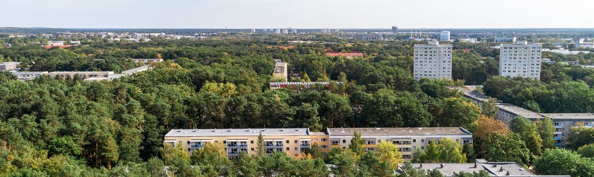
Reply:
M399 148L405 160L412 159L417 148L424 150L428 144L451 138L460 144L472 143L472 134L462 127L436 128L327 128L327 132L310 132L308 128L248 128L248 129L172 129L165 135L163 144L182 146L188 153L204 147L206 143L222 143L228 157L239 153L255 154L258 135L264 138L265 152L274 151L299 156L317 144L326 154L330 148L348 148L354 131L361 132L365 151L374 151L381 141Z

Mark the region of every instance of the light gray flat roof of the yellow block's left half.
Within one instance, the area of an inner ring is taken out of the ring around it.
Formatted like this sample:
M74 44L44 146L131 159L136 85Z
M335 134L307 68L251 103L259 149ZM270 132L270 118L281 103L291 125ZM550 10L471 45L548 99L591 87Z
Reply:
M171 129L165 137L309 135L309 128Z

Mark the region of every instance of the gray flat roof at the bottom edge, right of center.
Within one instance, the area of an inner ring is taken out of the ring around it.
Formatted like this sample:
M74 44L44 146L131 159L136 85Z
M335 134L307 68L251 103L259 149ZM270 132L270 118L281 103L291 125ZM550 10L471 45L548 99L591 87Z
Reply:
M404 165L399 164L399 166ZM454 172L472 173L480 170L485 170L489 173L489 176L539 176L514 162L487 162L484 159L476 159L476 163L413 163L412 166L416 169L437 169L445 176L454 176Z

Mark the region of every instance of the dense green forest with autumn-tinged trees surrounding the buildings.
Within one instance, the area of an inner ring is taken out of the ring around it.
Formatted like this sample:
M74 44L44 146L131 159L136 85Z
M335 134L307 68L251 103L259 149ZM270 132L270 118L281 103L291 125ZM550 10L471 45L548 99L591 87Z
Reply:
M547 125L519 119L517 124L534 128L502 129L507 126L489 113L493 105L479 108L445 86L485 84L490 96L544 112L594 111L593 69L553 64L544 66L549 77L542 81L494 77L498 50L489 48L493 43L454 43L454 80L416 81L412 46L418 42L342 41L328 34L302 38L339 42L246 38L156 37L143 43L81 38L76 40L83 45L51 49L36 44L45 39L0 38L20 44L0 48L0 62L22 62L29 71L121 72L138 67L132 58L165 59L152 63L150 71L114 81L46 76L20 81L1 72L0 176L163 176L165 165L175 176L327 176L324 164L345 176L394 175L387 173L394 163L380 158L386 153L355 147L326 157L312 150L301 160L286 154L229 160L217 144L188 155L163 146L163 135L172 128L464 127L478 134L474 146L428 147L444 154L456 149L458 154L447 156L457 158L419 151L416 162L484 158L531 167L547 163L540 157L549 153L574 152L549 150L554 147L546 142ZM289 45L295 48L277 47ZM327 51L364 56L330 57ZM291 81L345 84L269 90L273 59L288 62L289 73L296 74ZM594 167L588 160L584 164Z

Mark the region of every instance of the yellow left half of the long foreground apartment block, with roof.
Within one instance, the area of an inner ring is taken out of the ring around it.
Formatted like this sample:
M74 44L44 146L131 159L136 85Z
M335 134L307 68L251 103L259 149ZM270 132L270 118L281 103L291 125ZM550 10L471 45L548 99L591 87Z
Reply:
M311 148L311 138L317 134L309 128L247 128L247 129L172 129L163 143L182 146L191 153L206 143L223 143L228 157L237 157L240 152L253 155L258 146L258 135L264 137L266 153L285 152L299 156L305 148ZM321 140L319 138L318 140Z

